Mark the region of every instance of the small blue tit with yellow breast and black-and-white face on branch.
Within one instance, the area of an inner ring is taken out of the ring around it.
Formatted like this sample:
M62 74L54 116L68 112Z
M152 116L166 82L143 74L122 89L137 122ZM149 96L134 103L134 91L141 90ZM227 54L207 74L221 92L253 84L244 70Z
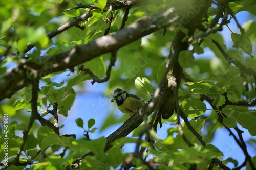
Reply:
M114 100L116 101L117 108L121 112L130 114L131 116L144 106L143 101L138 96L128 94L120 88L114 91L111 102L114 102Z

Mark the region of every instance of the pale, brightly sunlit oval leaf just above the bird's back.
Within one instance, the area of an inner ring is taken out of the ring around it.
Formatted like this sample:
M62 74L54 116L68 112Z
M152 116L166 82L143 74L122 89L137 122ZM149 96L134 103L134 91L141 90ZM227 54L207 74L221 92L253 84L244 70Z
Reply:
M154 89L153 86L146 77L137 77L135 79L135 87L141 94L152 94Z

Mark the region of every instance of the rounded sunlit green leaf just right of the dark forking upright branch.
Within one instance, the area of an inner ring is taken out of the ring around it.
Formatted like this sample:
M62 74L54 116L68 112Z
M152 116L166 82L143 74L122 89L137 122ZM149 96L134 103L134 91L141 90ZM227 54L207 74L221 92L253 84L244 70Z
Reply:
M187 98L180 104L187 117L198 117L206 111L206 105L199 99Z

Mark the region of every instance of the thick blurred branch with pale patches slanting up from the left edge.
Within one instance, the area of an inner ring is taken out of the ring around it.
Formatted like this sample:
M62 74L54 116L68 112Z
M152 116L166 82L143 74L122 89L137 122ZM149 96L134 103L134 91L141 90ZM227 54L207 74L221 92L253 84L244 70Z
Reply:
M143 36L169 26L170 23L178 20L177 13L181 11L182 8L176 8L175 6L165 8L112 35L103 36L86 45L76 46L71 51L56 56L42 57L40 65L34 62L24 61L24 63L8 70L6 74L0 77L0 100L9 98L17 90L28 85L28 67L37 70L38 77L43 77L52 72L65 70L67 68L73 69L76 65L90 61L102 54L117 51L119 48Z

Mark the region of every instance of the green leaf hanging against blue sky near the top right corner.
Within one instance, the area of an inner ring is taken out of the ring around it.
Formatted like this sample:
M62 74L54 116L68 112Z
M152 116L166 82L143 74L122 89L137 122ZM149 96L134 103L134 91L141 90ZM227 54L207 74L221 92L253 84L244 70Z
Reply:
M241 48L246 54L248 54L251 57L254 57L253 55L251 55L251 52L252 52L251 40L245 35L241 40L240 40L240 37L241 37L240 34L231 33L231 38L234 43L233 46Z

